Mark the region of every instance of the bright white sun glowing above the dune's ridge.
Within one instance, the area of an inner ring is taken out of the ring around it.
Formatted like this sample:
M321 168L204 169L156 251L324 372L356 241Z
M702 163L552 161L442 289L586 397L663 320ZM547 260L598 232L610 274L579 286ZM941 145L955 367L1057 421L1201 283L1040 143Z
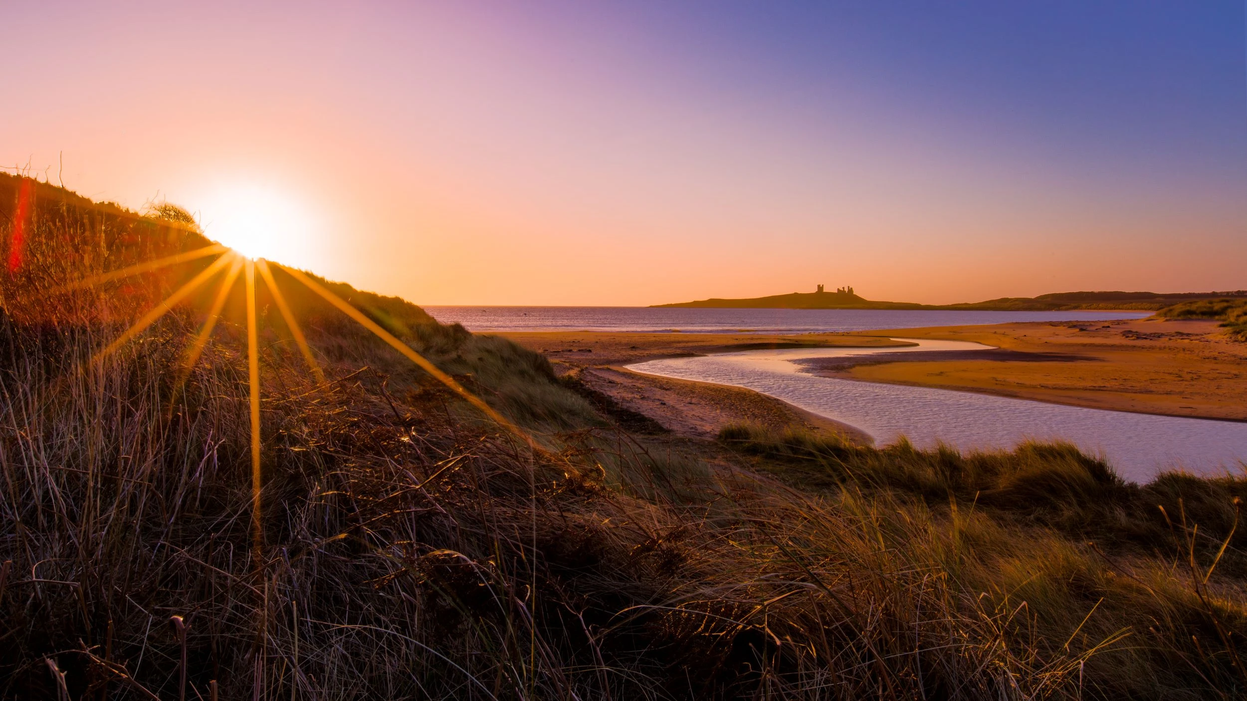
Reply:
M262 185L221 188L200 207L205 233L248 258L293 264L314 263L309 253L320 238L320 222L307 203Z

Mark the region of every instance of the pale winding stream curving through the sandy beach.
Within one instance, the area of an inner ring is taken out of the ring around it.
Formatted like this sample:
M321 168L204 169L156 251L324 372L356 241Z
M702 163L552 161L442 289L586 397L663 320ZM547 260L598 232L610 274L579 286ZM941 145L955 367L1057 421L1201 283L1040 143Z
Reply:
M877 444L908 438L961 450L1009 449L1028 439L1066 440L1101 455L1125 479L1147 481L1162 470L1200 475L1241 473L1247 423L1089 409L990 394L848 380L814 374L835 363L887 362L900 353L999 353L963 341L895 338L888 348L792 348L666 358L628 369L744 387L870 434ZM927 355L930 354L930 355Z

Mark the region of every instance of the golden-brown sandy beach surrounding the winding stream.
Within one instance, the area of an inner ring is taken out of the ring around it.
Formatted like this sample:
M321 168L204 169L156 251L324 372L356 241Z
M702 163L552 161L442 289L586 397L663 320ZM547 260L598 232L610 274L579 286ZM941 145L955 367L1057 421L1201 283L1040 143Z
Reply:
M705 437L727 423L803 425L860 437L752 390L651 378L621 365L757 348L888 347L893 338L971 341L998 350L884 353L807 360L807 372L981 392L1096 409L1247 420L1247 344L1208 321L1009 323L880 329L853 334L544 332L503 334L539 350L561 373L663 427ZM812 418L813 417L813 418Z

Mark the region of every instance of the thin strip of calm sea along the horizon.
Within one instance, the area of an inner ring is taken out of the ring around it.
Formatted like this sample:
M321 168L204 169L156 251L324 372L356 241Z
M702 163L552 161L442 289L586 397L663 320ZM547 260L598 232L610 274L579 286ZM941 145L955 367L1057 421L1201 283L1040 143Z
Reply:
M652 307L425 307L468 331L682 331L811 333L1006 322L1137 319L1147 312L945 312L893 309L687 309Z

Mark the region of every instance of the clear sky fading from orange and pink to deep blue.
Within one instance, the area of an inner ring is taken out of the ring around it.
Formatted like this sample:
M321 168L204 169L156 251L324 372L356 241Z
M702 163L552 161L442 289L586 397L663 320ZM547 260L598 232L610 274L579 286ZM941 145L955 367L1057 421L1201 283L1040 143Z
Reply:
M1242 0L0 0L0 165L416 303L1247 288Z

